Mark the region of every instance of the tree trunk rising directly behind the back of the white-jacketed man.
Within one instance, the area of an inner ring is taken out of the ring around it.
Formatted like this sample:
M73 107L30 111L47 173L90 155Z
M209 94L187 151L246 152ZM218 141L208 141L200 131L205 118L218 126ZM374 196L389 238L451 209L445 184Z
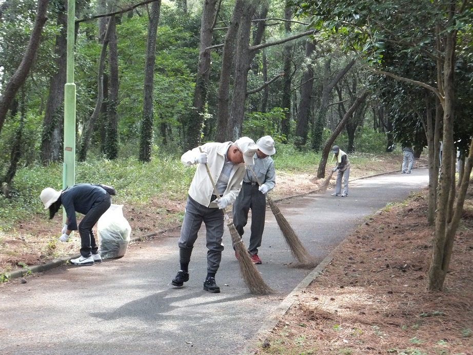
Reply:
M199 52L199 66L194 89L192 110L184 127L184 151L192 149L201 142L203 114L207 101L207 90L210 77L211 51L206 50L212 45L213 24L216 16L217 0L204 0L201 19L201 43Z

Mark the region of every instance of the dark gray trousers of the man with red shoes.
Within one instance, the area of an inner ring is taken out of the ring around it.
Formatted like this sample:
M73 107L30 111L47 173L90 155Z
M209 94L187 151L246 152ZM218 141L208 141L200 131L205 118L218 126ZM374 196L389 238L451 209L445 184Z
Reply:
M248 212L251 209L251 234L248 246L251 255L258 254L266 215L266 196L258 190L258 187L258 184L243 184L233 204L233 224L240 236L245 232L243 227L248 223Z

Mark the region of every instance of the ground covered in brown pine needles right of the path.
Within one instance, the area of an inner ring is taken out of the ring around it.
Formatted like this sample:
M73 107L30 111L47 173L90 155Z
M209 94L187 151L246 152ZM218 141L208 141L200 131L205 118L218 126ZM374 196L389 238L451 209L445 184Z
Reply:
M426 290L426 193L367 219L255 353L473 354L473 188L442 292Z

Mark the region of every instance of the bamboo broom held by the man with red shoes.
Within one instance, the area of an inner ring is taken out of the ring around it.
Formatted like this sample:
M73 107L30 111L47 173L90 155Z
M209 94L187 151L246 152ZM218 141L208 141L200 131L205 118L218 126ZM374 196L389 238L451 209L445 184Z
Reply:
M251 166L248 165L248 168L250 168L254 178L258 182L258 185L261 186L261 183ZM286 244L291 250L292 256L297 259L301 264L313 264L313 258L311 257L307 249L302 245L301 241L299 240L299 237L294 232L289 222L287 222L286 218L281 213L279 207L276 206L276 204L269 197L268 194L266 194L266 198L268 200L269 207L271 208L271 211L274 214L274 218L276 219L276 222L278 222L278 226L281 229L281 232L283 233L284 239L286 240Z

